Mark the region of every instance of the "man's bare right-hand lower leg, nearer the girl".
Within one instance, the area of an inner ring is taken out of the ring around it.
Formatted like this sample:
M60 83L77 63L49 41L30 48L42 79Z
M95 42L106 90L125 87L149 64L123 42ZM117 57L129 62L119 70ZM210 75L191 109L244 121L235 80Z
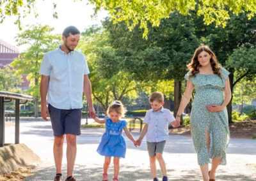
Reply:
M66 134L67 140L67 177L73 175L76 160L76 135Z

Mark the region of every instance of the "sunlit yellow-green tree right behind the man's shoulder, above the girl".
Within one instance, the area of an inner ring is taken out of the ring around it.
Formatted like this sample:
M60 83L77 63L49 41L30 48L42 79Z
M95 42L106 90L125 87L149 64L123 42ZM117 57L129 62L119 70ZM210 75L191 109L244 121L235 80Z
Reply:
M115 99L122 99L126 96L129 99L138 97L138 89L148 87L145 82L134 80L133 75L115 69L116 55L115 48L108 45L108 33L98 27L91 27L82 33L80 47L90 68L90 80L92 83L93 97L99 101L106 113L109 103ZM114 62L114 64L109 64Z

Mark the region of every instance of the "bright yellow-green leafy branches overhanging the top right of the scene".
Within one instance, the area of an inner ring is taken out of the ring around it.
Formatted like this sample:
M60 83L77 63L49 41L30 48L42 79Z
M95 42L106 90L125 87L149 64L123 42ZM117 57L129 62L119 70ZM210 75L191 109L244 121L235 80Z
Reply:
M155 1L155 0L90 0L96 6L97 13L100 8L108 10L114 24L124 21L131 31L139 25L144 29L143 37L147 38L148 22L150 25L159 26L161 20L168 18L170 14L179 11L182 15L189 15L190 10L197 10L198 16L204 16L205 24L215 22L216 26L225 26L230 18L229 11L238 15L241 12L249 12L250 19L256 12L256 2L228 1L228 0L189 0L189 1Z

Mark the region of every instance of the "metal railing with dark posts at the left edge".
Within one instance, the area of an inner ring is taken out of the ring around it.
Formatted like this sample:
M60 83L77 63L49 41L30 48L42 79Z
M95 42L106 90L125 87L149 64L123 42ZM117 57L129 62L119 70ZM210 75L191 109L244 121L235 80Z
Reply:
M0 147L4 146L4 103L15 100L15 144L19 144L20 105L32 101L32 96L0 91ZM20 102L24 101L24 102Z

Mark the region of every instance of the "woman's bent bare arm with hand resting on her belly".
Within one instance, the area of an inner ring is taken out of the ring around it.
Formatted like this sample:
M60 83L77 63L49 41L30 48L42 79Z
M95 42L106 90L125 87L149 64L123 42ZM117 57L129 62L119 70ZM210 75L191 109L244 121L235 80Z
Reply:
M230 84L229 84L229 78L227 78L227 80L225 81L225 88L224 88L224 92L225 92L225 99L222 103L222 105L212 105L212 106L207 106L207 110L209 110L209 112L221 112L229 103L230 99L231 99L231 90L230 90Z

